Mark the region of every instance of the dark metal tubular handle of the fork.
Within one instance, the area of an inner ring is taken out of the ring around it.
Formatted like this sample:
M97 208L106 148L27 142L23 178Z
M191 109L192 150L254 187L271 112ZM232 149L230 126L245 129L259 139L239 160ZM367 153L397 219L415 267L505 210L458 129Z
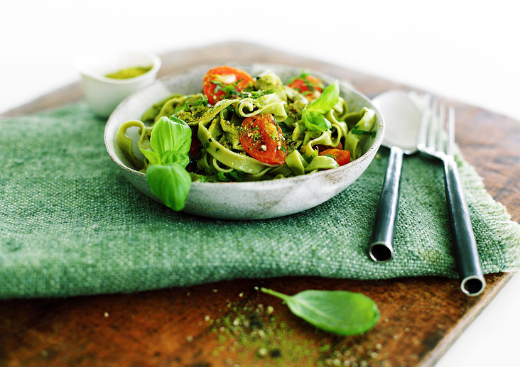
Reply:
M460 287L467 295L480 295L486 286L486 281L480 268L477 242L460 183L457 163L450 158L444 159L443 162L446 200L455 246L455 261L461 279Z

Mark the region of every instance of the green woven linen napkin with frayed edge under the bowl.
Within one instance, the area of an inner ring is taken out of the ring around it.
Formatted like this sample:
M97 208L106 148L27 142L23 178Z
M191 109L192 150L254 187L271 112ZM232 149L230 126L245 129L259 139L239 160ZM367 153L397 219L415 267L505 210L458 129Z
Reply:
M281 275L457 276L443 169L430 160L405 158L395 257L374 263L367 244L386 149L359 180L314 209L221 221L175 213L136 190L107 155L104 123L83 103L0 120L1 298ZM457 159L484 272L518 268L518 224Z

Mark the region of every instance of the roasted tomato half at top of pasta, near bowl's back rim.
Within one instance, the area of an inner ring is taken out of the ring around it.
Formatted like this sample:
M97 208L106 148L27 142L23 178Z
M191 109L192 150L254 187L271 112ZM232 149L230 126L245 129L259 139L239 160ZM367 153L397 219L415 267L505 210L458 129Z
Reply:
M232 92L240 92L254 84L251 75L244 70L230 66L219 66L208 70L203 82L204 95L207 102L215 104Z

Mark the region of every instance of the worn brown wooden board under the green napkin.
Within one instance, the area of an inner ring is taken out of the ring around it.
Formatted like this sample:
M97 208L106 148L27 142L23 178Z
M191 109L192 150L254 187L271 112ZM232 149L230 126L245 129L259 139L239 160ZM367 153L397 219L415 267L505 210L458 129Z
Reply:
M349 80L373 97L401 84L250 43L222 43L163 55L161 75L209 62L275 62ZM4 116L80 99L71 84ZM491 195L520 219L520 124L445 100L457 112L457 142ZM493 128L501 126L501 128ZM485 157L485 159L483 159ZM432 366L504 287L487 275L468 298L458 281L360 281L311 277L234 280L189 288L66 299L0 301L0 366ZM381 321L362 336L316 331L256 287L293 294L351 290L372 297Z

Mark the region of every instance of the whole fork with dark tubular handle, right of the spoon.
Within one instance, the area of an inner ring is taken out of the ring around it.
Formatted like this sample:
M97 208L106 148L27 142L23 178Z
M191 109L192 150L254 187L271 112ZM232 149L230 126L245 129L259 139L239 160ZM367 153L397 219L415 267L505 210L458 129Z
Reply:
M460 288L466 295L480 295L486 286L482 275L477 242L470 221L470 211L460 183L457 163L453 157L455 148L455 109L433 101L425 96L426 109L423 111L418 131L417 150L421 155L441 160L444 165L444 183L451 232L455 248L455 261L460 275ZM446 114L448 111L448 114Z

